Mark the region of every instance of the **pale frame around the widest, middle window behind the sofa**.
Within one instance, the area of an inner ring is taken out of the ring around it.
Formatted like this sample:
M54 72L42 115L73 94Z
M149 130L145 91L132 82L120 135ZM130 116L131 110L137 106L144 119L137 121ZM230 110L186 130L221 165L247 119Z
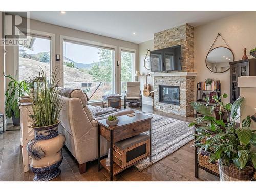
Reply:
M74 44L80 44L80 45L85 45L85 46L92 46L92 47L99 47L99 48L109 48L113 49L113 66L112 66L112 90L113 93L116 93L117 91L117 68L116 68L116 61L117 61L117 46L110 45L110 44L103 44L101 42L96 42L96 41L91 41L91 40L86 40L86 39L81 39L81 38L75 38L75 37L70 37L70 36L64 36L60 35L60 72L61 72L61 80L60 80L60 86L64 86L64 66L63 66L63 60L64 60L64 42L68 41ZM94 103L94 104L102 104L102 101L89 101L89 103Z

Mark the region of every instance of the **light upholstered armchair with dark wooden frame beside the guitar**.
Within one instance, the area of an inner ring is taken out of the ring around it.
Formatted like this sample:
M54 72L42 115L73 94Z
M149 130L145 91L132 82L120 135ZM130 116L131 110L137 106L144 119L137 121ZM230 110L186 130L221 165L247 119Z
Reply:
M142 108L140 82L127 82L127 91L124 94L124 109L126 108L126 102L129 101L140 102L140 108Z

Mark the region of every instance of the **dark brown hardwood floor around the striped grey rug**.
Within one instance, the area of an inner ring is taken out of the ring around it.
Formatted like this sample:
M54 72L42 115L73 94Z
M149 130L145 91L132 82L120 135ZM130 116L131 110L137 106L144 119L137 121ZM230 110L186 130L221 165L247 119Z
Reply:
M143 105L142 111L154 112L190 122L194 117L183 117L159 111L151 106ZM199 179L194 177L194 147L193 141L179 150L139 172L130 167L114 176L114 181L219 181L219 178L199 169ZM108 181L109 173L104 168L97 169L97 160L87 163L86 173L80 174L75 158L66 147L63 148L63 162L60 165L61 174L52 181ZM6 131L0 135L0 181L32 181L34 174L23 173L22 152L20 151L19 131Z

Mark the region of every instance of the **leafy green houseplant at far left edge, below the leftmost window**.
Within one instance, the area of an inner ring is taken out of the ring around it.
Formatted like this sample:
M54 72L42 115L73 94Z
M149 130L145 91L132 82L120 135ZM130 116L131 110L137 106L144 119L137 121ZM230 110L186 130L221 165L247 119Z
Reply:
M28 93L29 88L25 80L17 81L11 75L5 75L10 79L8 89L5 92L5 113L8 118L12 118L13 125L19 125L19 99Z

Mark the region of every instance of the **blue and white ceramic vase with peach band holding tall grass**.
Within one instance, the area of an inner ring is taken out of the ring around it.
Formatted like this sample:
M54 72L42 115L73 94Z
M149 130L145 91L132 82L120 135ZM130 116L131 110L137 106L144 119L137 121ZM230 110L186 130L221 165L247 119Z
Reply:
M49 181L60 174L62 147L65 136L59 134L58 123L45 127L34 127L35 138L27 144L28 154L32 157L30 168L35 174L34 181Z

